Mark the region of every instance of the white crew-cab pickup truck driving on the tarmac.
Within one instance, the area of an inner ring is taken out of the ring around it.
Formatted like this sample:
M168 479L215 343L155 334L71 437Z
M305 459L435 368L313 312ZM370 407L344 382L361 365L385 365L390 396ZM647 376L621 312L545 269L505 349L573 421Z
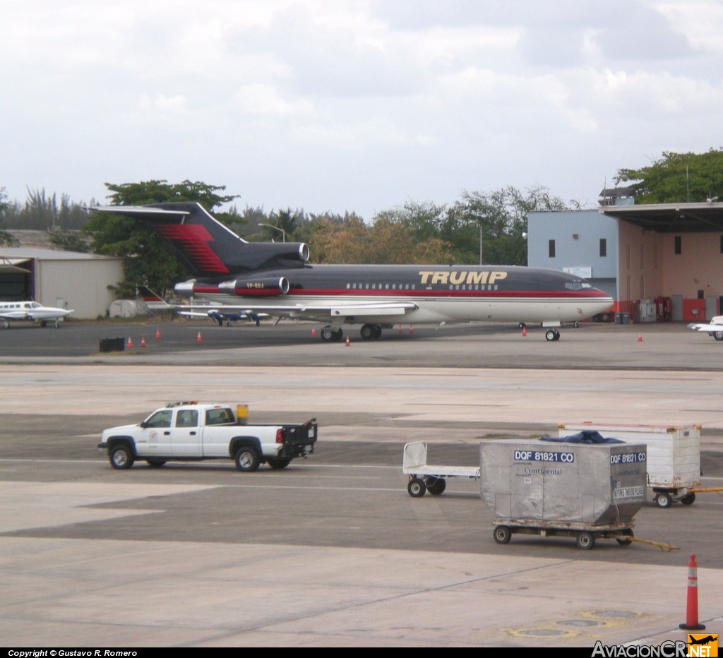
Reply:
M239 471L260 463L284 469L292 459L314 452L317 423L245 424L245 406L170 403L137 425L104 430L98 449L107 450L114 469L129 469L137 459L149 466L166 461L233 459Z

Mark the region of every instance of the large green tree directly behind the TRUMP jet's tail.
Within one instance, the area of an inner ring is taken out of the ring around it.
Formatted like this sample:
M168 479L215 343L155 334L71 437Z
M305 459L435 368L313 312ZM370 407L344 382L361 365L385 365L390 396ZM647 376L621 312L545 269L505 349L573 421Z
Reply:
M199 202L209 212L217 205L233 201L236 196L221 195L226 189L218 185L183 181L168 184L163 180L120 185L106 183L112 192L111 205L147 205L169 201ZM242 221L233 213L216 214L218 219ZM142 283L153 290L168 291L174 283L189 278L181 262L153 228L142 220L94 213L84 228L95 253L124 258L125 281L117 286L119 295L129 296Z

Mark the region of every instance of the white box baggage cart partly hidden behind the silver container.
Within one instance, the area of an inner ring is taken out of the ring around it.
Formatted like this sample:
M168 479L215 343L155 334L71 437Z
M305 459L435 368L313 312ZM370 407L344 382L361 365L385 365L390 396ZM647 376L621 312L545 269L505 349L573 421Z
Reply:
M700 425L625 425L584 422L559 424L557 435L565 437L594 430L611 437L648 446L648 486L662 509L673 503L693 505L701 484ZM706 490L709 491L709 490Z

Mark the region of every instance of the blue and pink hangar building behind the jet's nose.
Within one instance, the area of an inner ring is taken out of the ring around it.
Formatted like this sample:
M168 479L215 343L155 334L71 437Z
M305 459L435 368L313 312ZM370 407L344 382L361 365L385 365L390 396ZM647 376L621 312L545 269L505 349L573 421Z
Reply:
M723 312L723 203L634 204L528 215L531 267L578 273L615 304L598 319L707 322Z

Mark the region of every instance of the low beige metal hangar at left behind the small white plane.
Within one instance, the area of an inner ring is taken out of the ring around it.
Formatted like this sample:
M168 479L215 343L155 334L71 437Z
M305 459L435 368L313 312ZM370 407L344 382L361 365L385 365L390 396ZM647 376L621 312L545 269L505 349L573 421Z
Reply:
M0 247L0 299L34 299L43 306L74 309L76 320L105 317L123 281L119 257L39 247Z

